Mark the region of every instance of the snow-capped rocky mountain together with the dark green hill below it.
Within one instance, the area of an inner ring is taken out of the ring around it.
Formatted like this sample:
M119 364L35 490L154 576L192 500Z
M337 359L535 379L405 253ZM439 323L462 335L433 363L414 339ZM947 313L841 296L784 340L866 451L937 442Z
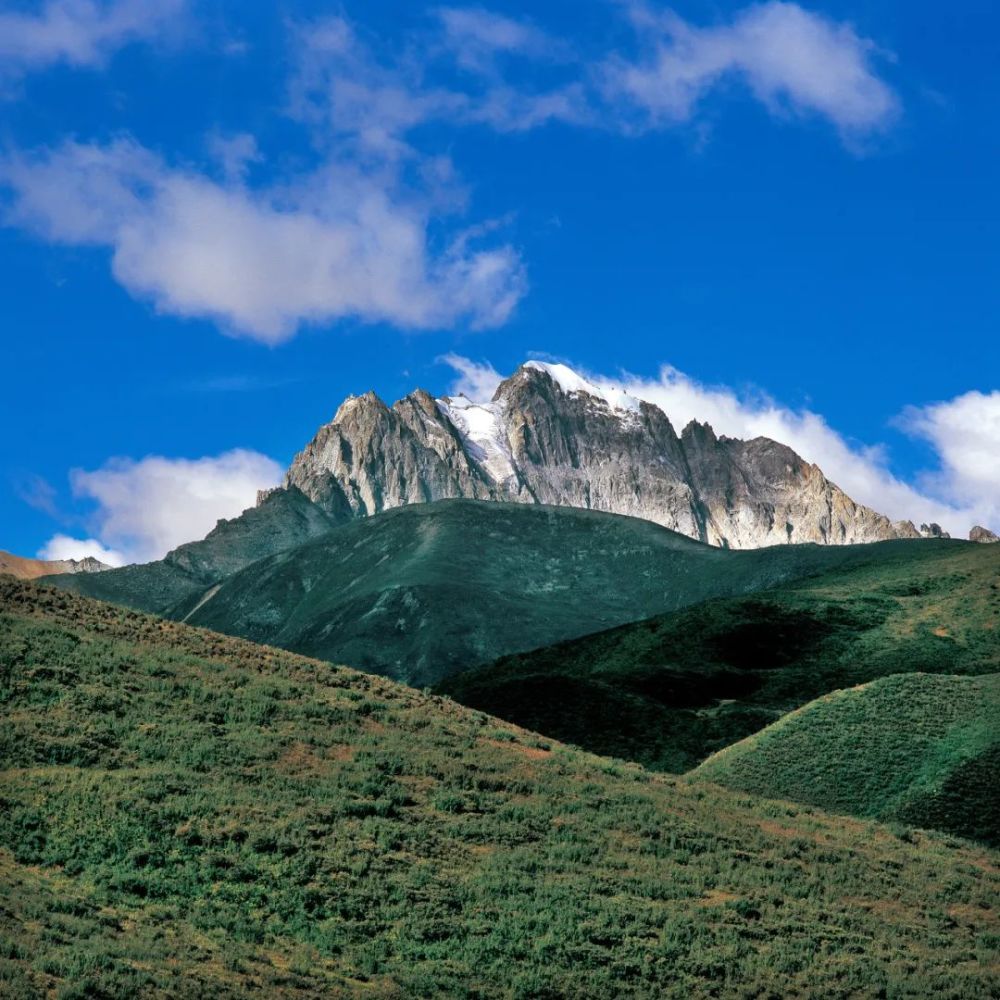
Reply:
M528 362L489 403L352 397L282 486L205 539L54 580L431 684L920 535L784 445L697 423L678 435L655 406Z

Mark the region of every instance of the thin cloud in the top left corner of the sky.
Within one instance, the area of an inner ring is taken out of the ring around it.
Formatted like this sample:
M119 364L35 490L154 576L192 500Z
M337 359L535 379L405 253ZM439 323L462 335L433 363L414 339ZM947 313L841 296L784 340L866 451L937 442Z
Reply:
M0 75L55 63L102 65L130 42L156 38L186 0L48 0L37 13L0 12Z

